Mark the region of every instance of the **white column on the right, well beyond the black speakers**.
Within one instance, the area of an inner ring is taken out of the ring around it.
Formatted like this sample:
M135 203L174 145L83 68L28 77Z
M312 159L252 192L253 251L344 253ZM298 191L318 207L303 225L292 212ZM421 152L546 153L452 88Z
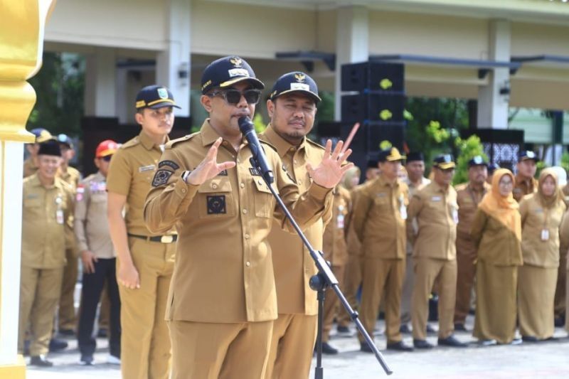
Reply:
M489 22L489 60L510 60L510 23L506 20ZM509 68L496 68L488 74L487 85L478 90L478 127L494 129L508 128L509 93L500 94L500 90L510 88Z

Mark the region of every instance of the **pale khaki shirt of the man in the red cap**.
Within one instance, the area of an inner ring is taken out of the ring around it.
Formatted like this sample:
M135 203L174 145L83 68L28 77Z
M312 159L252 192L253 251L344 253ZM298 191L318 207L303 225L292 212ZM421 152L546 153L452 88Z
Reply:
M75 235L81 252L97 258L116 257L107 221L107 179L100 171L79 183L75 196Z

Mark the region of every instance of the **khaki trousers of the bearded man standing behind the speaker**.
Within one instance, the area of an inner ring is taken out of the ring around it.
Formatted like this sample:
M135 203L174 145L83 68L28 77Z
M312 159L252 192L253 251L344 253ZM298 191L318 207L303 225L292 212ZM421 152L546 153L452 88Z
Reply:
M316 314L279 314L272 327L265 378L308 378L317 322Z

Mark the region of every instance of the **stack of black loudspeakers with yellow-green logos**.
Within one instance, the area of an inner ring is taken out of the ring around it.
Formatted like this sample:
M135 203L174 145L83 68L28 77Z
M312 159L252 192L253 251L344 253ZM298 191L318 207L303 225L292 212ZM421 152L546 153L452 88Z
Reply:
M364 62L342 65L341 138L356 122L360 129L351 144L353 160L365 167L377 159L379 145L389 141L403 151L405 141L405 66L399 63Z

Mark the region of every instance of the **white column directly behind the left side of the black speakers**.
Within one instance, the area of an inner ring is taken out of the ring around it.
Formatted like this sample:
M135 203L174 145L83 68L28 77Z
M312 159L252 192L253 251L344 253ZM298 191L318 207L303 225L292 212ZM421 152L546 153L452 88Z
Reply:
M342 6L336 12L336 85L334 118L341 118L341 65L369 59L369 17L364 6Z

